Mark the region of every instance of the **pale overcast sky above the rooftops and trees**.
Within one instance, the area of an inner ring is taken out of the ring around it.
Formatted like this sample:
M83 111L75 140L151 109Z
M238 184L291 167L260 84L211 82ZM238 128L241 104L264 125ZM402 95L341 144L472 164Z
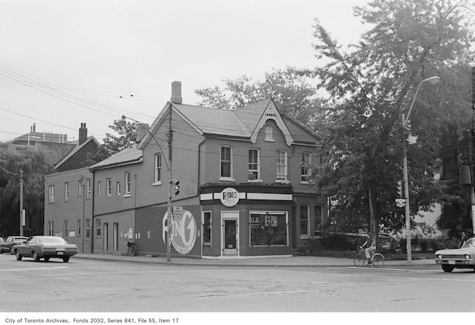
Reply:
M340 43L369 27L364 0L0 0L0 141L36 132L102 142L122 115L151 124L181 81L195 90L316 67L317 18Z

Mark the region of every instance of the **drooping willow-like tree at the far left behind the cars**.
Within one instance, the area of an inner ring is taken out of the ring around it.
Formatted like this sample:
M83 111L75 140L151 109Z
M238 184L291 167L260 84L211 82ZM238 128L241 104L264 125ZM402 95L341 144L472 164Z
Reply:
M36 147L17 150L0 144L0 166L0 237L20 235L20 170L26 227L35 235L43 234L44 181L52 171L46 153Z

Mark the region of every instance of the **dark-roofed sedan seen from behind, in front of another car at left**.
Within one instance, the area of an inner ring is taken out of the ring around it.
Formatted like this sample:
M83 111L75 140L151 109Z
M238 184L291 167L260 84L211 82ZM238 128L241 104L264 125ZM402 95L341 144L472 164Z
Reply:
M22 243L12 247L18 261L23 257L32 257L39 262L40 258L49 261L50 258L62 258L64 262L78 254L78 247L75 244L68 244L62 237L55 236L33 236Z

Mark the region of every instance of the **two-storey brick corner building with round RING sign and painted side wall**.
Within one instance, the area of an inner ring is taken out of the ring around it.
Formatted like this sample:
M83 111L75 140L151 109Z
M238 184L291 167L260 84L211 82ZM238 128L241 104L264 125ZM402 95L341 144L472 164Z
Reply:
M170 235L172 256L198 258L291 256L321 237L328 205L310 168L322 163L317 134L272 99L193 106L174 82L171 101L144 127L134 146L47 178L48 233L93 253L123 254L132 240L152 256L167 253Z

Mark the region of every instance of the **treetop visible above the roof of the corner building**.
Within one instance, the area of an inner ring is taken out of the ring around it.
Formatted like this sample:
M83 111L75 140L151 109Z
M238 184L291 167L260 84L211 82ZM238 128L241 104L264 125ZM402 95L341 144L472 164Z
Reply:
M223 87L215 85L195 90L195 93L202 97L198 104L219 109L238 109L273 98L280 113L315 126L316 112L322 106L322 100L310 81L300 69L286 67L266 72L263 81L242 76L236 80L226 79Z

